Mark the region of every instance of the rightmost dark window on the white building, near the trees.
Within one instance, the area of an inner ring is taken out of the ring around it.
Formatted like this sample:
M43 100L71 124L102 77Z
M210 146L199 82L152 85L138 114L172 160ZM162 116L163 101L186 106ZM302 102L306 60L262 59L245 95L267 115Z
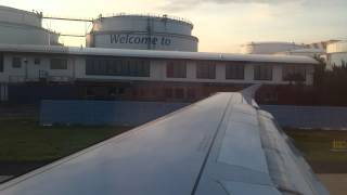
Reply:
M306 68L301 65L290 65L282 68L282 79L284 81L305 81Z

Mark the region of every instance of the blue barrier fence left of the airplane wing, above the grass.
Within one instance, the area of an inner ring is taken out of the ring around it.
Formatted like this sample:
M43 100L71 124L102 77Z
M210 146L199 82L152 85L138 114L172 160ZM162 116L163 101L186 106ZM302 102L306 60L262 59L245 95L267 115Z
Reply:
M40 125L138 126L188 103L123 101L42 101Z

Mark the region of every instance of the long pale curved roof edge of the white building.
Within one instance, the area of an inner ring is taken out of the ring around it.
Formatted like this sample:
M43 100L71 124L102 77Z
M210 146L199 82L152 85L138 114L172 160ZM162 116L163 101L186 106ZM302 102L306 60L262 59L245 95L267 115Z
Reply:
M60 46L0 44L0 51L25 52L25 53L55 53L55 54L72 54L72 55L103 55L103 56L171 58L171 60L209 60L209 61L318 64L318 62L312 57L295 56L295 55L279 56L279 55L265 55L265 54L153 51L153 50L79 48L79 47L60 47Z

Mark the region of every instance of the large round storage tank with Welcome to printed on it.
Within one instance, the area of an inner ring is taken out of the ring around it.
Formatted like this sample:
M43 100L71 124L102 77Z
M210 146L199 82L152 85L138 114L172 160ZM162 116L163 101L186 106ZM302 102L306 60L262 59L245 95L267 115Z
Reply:
M169 16L100 17L87 36L87 47L137 50L197 51L193 24Z

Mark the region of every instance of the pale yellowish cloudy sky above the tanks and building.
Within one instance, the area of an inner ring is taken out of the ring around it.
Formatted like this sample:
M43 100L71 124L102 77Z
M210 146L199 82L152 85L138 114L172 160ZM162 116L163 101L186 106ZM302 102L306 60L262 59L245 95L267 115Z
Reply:
M250 41L347 39L347 0L0 0L0 4L74 17L120 12L180 16L193 22L198 50L209 52L239 52L240 44ZM78 23L44 21L43 25L63 34L88 29Z

